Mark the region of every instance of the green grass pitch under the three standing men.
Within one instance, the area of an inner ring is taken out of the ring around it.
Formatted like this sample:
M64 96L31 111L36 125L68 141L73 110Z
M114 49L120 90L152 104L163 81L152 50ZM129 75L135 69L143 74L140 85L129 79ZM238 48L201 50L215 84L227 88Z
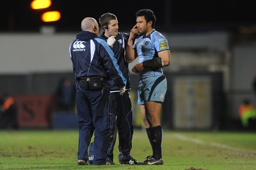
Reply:
M1 130L0 169L256 169L253 132L163 131L163 166L78 166L78 130ZM134 130L132 156L151 155L144 130Z

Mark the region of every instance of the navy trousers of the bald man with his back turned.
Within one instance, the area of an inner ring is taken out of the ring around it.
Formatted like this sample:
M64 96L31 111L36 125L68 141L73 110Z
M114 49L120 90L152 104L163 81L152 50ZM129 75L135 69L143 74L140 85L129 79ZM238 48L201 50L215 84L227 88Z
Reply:
M78 160L88 160L94 130L94 159L93 164L106 164L109 146L108 101L109 92L106 90L84 90L77 92L77 116L79 123Z

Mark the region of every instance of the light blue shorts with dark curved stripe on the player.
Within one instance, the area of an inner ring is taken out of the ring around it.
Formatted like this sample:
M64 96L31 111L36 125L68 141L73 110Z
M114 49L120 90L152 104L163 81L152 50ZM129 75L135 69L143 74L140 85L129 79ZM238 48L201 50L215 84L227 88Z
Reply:
M138 105L144 105L144 101L164 102L167 90L167 80L164 75L141 79L138 85Z

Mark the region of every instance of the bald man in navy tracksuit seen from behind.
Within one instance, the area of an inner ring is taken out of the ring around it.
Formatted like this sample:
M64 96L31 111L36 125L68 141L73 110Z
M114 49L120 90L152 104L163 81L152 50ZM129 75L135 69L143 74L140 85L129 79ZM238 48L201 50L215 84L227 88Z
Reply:
M69 52L76 79L76 102L79 123L77 164L88 161L88 147L94 132L93 164L112 164L106 161L109 146L109 90L115 83L120 95L125 92L126 79L119 70L113 51L104 40L97 38L99 24L86 17L81 33L71 43Z

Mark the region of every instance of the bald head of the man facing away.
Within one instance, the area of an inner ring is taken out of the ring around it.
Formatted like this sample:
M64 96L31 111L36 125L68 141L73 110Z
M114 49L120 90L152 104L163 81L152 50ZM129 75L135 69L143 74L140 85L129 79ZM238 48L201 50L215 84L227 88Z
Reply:
M81 29L83 31L90 31L99 35L99 24L97 20L93 19L92 17L86 17L81 22Z

